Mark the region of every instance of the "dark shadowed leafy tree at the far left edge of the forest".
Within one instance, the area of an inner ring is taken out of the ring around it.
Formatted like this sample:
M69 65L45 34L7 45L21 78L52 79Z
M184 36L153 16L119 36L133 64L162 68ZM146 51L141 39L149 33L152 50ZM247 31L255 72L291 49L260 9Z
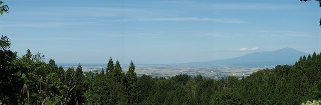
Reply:
M9 50L10 45L9 38L2 36L0 39L0 101L5 104L18 104L17 91L23 85L21 74L24 71L13 64L17 59L17 53Z

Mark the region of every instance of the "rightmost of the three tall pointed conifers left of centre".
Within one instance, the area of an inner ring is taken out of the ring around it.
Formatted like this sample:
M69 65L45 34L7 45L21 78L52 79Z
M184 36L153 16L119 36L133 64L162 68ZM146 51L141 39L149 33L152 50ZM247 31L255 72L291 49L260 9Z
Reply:
M127 99L128 104L138 104L139 103L139 92L137 86L137 77L135 72L135 65L131 61L128 67L128 71L126 73L126 80L127 80Z

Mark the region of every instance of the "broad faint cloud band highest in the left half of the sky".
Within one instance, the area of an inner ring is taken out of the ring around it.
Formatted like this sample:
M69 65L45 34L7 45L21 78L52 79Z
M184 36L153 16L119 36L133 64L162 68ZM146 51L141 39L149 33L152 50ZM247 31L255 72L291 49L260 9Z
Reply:
M34 11L34 10L26 10ZM46 7L43 11L17 12L22 16L49 16L49 17L128 17L159 14L156 10L135 8L104 8L104 7ZM164 13L165 14L165 13Z

